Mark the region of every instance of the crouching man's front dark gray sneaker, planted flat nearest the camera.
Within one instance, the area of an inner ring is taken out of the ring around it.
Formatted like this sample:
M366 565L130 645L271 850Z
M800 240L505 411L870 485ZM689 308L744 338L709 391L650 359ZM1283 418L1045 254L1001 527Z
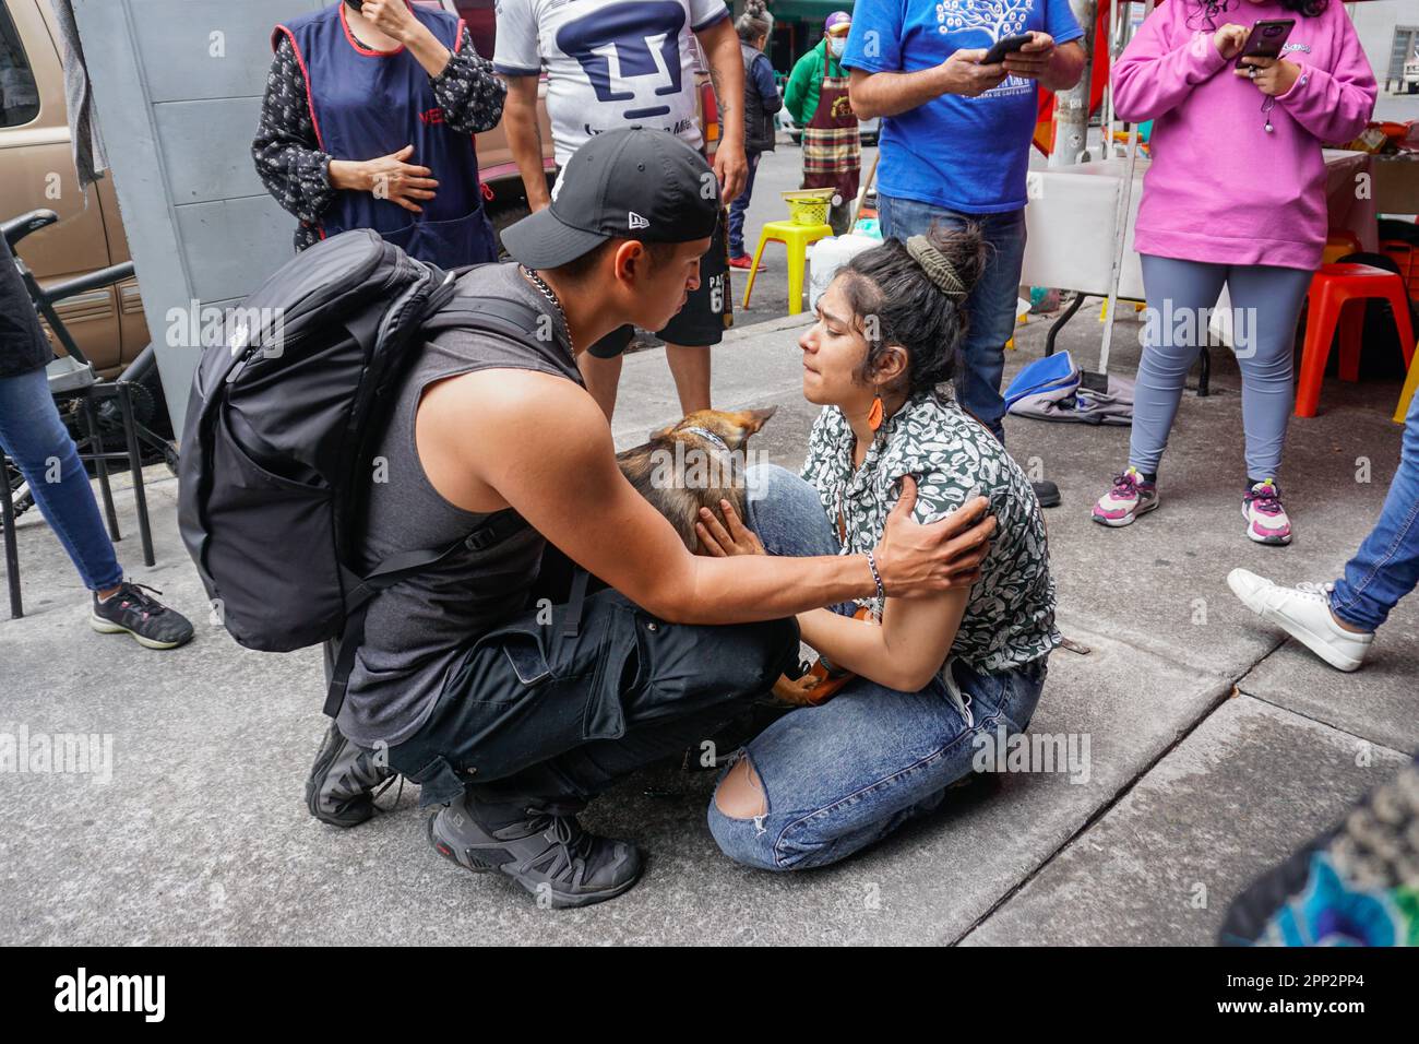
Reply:
M526 810L502 827L473 818L468 801L429 817L429 842L438 855L475 874L498 871L552 908L590 906L614 899L640 878L640 849L629 841L585 830L575 815Z

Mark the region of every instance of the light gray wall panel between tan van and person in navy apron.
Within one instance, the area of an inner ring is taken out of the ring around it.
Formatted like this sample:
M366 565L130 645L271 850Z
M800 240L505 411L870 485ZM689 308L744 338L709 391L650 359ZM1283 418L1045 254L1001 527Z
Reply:
M234 304L292 254L251 138L271 28L324 0L74 0L148 328L176 425L201 354L170 308ZM213 34L221 34L214 44ZM224 51L224 53L219 53ZM169 339L175 341L169 344Z

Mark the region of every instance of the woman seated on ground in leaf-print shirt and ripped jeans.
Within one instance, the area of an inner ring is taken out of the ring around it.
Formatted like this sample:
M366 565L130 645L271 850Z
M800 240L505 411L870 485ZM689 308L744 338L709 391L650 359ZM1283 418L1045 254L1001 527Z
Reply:
M996 518L971 588L866 599L867 619L851 604L799 616L803 641L856 678L776 720L721 777L710 830L738 862L851 855L941 804L976 736L1015 734L1034 713L1060 643L1044 521L1025 472L942 391L983 264L971 229L853 259L799 342L803 393L823 406L802 477L753 467L748 527L732 510L700 526L711 554L820 555L871 550L898 497L928 521L981 494Z

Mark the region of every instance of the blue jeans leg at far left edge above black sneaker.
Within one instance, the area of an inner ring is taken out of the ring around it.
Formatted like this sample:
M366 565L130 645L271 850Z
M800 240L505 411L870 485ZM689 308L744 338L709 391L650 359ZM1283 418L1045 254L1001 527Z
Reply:
M84 587L116 587L123 570L43 369L0 378L0 447L30 483L34 503L68 551Z

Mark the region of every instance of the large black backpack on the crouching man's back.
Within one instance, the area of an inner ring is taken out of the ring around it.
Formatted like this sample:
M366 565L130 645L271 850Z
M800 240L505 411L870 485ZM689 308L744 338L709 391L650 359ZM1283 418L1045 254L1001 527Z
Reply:
M532 339L538 311L454 297L454 277L366 229L324 240L228 314L223 344L203 352L193 379L177 470L183 543L241 645L288 652L341 642L331 716L370 598L524 526L499 511L451 545L359 568L373 452L424 324L437 314L440 330Z

